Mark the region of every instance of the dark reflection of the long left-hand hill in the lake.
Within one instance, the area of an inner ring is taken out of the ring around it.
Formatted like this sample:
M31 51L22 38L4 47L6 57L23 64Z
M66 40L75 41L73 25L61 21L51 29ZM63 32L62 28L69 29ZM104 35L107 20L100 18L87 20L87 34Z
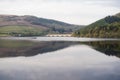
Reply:
M0 40L0 57L34 56L63 49L73 42L31 42Z

